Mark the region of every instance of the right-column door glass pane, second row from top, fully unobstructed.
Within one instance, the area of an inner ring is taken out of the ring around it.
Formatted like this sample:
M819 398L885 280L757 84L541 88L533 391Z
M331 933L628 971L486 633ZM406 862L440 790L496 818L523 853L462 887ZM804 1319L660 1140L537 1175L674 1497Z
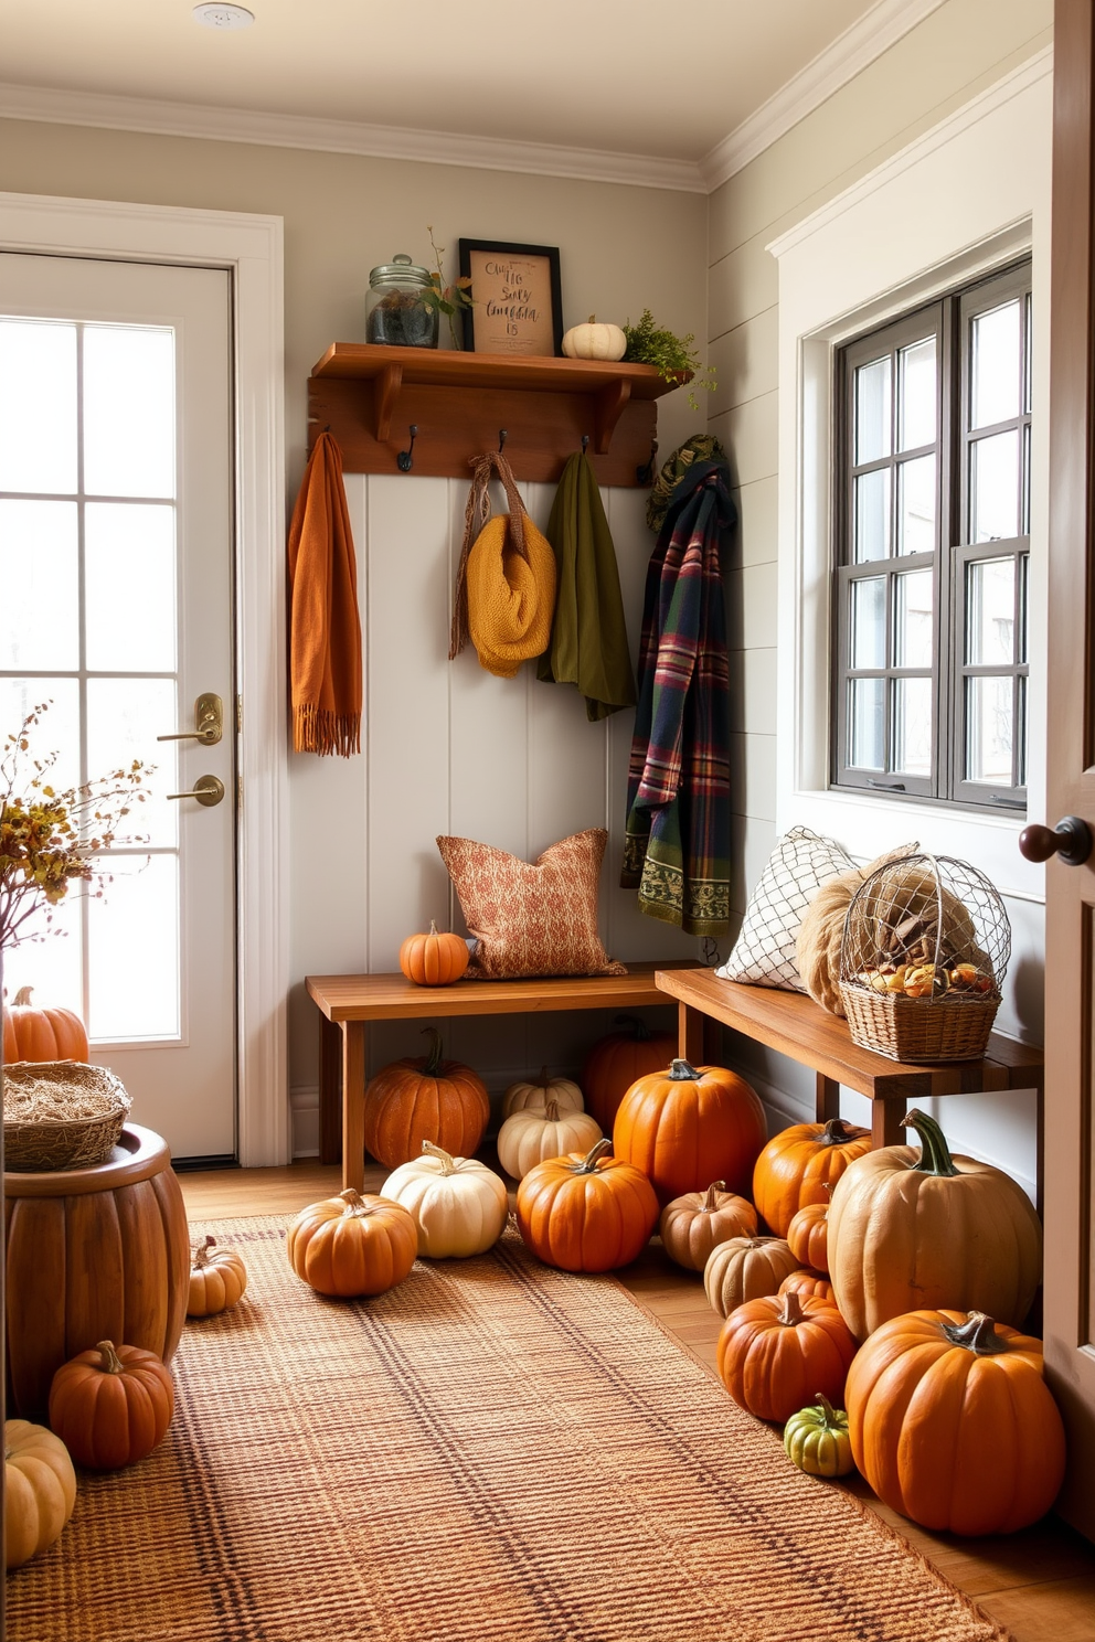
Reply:
M164 504L87 504L84 573L90 668L174 672L174 507Z

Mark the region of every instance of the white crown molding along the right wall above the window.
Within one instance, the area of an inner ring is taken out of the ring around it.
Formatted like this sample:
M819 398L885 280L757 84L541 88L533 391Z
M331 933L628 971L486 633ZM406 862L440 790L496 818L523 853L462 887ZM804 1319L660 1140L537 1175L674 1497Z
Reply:
M750 113L749 120L742 120L729 136L703 156L699 174L706 192L712 194L744 171L757 154L819 108L944 3L946 0L878 0L767 103Z

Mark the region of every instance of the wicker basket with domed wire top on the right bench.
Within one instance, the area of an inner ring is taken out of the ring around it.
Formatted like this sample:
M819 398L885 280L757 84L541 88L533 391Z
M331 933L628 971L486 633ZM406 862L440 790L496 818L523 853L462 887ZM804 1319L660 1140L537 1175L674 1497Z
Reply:
M1010 957L1008 915L977 867L928 854L887 862L844 921L852 1041L891 1061L978 1061Z

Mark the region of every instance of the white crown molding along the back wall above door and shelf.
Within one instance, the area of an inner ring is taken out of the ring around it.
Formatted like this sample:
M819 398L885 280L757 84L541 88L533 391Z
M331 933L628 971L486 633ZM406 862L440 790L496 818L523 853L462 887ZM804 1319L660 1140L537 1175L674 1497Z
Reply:
M517 171L583 182L624 182L630 187L676 189L686 194L708 192L699 166L691 159L612 154L591 148L514 143L497 136L417 131L355 120L314 120L305 115L212 108L144 97L107 97L100 92L66 92L46 85L0 84L0 117L158 136L197 136L217 143L256 143L264 148L304 148L327 154L364 154L373 159L410 159L430 166Z

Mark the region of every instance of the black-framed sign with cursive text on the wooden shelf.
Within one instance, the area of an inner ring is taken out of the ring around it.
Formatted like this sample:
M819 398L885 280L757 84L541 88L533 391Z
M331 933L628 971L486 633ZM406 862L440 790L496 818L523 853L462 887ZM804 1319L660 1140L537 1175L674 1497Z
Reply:
M470 353L563 351L557 248L461 240L460 273L471 279L471 307L463 314Z

